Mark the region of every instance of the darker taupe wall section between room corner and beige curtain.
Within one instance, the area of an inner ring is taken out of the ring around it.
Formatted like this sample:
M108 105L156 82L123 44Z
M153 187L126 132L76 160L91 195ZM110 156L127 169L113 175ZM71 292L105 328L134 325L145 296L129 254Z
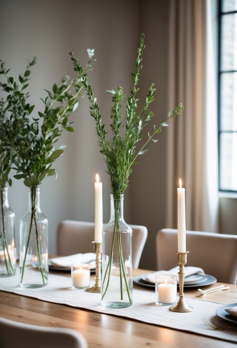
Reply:
M145 96L153 82L157 90L155 101L150 104L153 119L149 121L144 132L152 134L154 124L159 126L168 111L176 105L167 105L167 43L168 43L168 1L151 1L150 6L140 1L139 29L146 33L146 49L144 52L144 68L141 72L141 95ZM172 122L172 120L171 120ZM158 128L158 127L156 127ZM128 192L130 194L131 221L148 228L147 242L141 257L140 266L156 269L155 238L156 233L165 227L165 197L166 197L166 135L169 127L164 127L156 139L150 142L148 151L139 156L139 165L134 166L130 178Z

